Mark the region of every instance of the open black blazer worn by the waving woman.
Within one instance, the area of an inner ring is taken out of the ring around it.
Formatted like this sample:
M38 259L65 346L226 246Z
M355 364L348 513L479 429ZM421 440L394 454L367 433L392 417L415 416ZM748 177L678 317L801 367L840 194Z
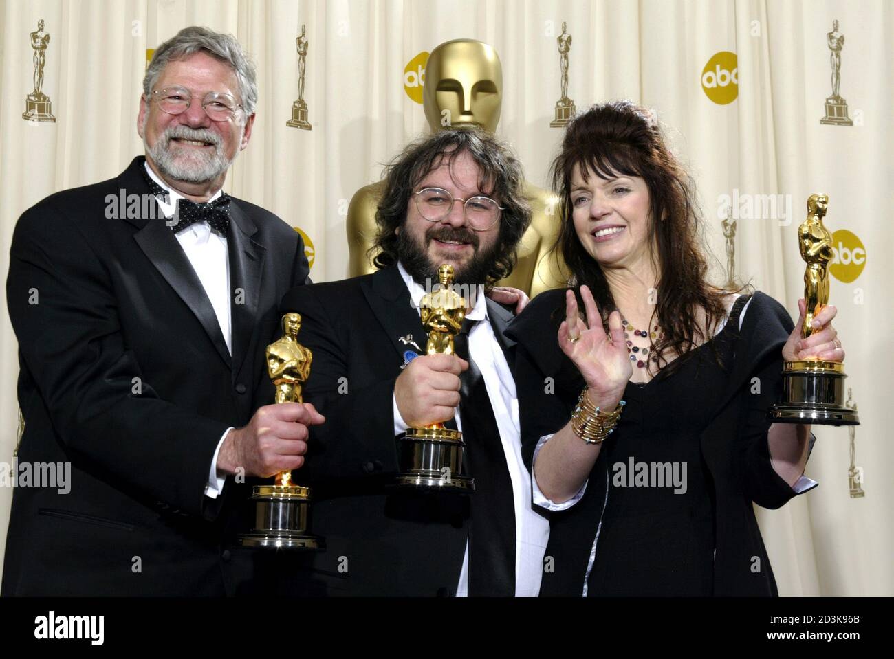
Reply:
M542 293L507 330L518 341L516 387L528 469L538 439L564 427L583 387L578 370L556 339L564 318L564 296L564 290ZM772 469L766 420L768 407L781 397L781 352L792 329L784 307L763 293L754 294L734 339L735 357L722 403L701 436L715 494L717 596L777 595L752 502L779 508L795 496ZM554 394L545 392L544 378L552 378ZM760 379L760 393L751 393L753 378ZM552 556L556 569L544 572L542 596L581 595L606 485L604 466L597 461L583 498L568 511L551 513L546 555Z

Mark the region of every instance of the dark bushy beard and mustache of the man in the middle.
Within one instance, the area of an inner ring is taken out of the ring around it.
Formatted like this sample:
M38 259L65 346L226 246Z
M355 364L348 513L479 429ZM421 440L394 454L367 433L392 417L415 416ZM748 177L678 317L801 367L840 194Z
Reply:
M493 262L497 250L500 248L500 243L496 242L485 251L479 251L478 244L480 239L472 229L433 226L426 231L426 243L424 246L419 245L416 240L410 237L406 229L398 233L398 260L417 284L425 287L426 279L431 282L429 286L438 281L438 268L443 263L432 263L428 260L427 254L427 248L434 239L467 242L475 250L468 263L460 268L454 268L453 283L467 284L468 286L485 285L487 283L487 273L493 268Z

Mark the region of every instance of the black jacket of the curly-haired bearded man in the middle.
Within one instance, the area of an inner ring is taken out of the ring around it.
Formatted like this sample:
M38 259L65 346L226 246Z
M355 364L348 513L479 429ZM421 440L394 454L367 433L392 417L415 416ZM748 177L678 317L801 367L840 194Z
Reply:
M487 308L504 341L511 312L492 300ZM295 476L311 486L312 531L325 538L326 550L299 557L291 589L319 596L455 595L476 495L389 488L399 471L394 381L404 352L424 354L426 346L397 266L294 288L281 311L301 314L298 340L313 354L304 401L326 418L311 430L308 460ZM410 334L421 349L401 342Z

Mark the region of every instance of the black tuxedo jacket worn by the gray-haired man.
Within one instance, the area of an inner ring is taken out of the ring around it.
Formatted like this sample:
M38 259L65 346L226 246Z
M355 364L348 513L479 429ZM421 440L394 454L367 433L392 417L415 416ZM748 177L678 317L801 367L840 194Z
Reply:
M273 401L264 347L308 263L296 231L232 199L231 357L160 210L109 218L122 192L149 194L144 162L48 196L16 224L19 460L72 471L69 494L15 489L4 596L223 595L239 576L223 538L244 486L209 499L208 472L223 431Z

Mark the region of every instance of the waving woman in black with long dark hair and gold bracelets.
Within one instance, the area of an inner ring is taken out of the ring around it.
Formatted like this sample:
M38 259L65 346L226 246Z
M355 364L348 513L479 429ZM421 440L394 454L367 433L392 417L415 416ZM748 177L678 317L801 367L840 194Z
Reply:
M775 596L752 503L815 483L809 426L766 413L783 359L843 361L836 309L802 340L771 297L708 283L691 184L643 108L579 115L553 181L571 288L508 332L534 503L551 511L541 595Z

